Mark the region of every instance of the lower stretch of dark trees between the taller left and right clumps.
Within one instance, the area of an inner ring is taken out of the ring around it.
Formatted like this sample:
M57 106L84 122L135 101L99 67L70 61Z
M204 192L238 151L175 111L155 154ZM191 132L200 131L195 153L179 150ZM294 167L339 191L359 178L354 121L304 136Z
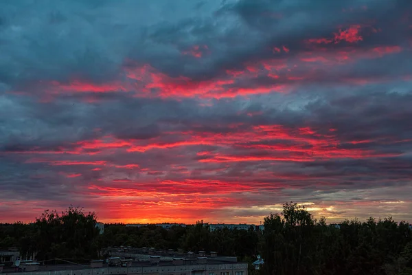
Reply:
M104 247L130 245L159 250L205 250L242 258L256 255L259 237L254 230L223 229L209 232L207 225L200 222L186 227L172 226L168 230L156 225L137 228L111 224L105 225L102 242Z

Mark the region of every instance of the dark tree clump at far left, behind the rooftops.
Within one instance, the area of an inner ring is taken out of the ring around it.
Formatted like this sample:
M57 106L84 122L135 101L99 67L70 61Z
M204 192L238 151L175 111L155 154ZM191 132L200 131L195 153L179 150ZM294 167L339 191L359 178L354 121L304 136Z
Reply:
M38 261L49 259L95 259L99 255L98 235L94 213L84 213L72 206L60 214L46 210L35 223L0 226L5 236L3 247L16 245L22 259L30 256ZM0 232L1 232L0 231Z

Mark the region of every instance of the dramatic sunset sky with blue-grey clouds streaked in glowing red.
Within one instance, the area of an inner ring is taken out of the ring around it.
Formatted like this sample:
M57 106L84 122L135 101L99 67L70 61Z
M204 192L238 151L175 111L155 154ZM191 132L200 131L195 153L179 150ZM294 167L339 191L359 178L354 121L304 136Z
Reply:
M1 1L0 221L412 221L411 11Z

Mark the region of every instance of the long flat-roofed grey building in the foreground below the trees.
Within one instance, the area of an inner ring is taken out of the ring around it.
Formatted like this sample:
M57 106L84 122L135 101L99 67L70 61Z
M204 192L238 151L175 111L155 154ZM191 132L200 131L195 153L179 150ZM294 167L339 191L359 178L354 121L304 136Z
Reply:
M152 248L124 247L106 250L110 254L107 261L91 261L89 266L36 265L34 271L36 275L247 275L248 270L247 263L238 262L236 257L218 256L216 252L206 254L199 251L195 254L181 250L157 251ZM2 275L12 275L14 272L15 267L3 267ZM32 273L26 269L19 272L19 275Z

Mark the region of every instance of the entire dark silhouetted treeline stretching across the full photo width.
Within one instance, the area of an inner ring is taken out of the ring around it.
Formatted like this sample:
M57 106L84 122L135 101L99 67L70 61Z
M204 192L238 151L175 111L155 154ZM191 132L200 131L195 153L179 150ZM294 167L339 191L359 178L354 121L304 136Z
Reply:
M238 256L252 263L258 254L265 263L249 274L412 274L411 228L391 218L343 221L340 228L316 220L304 207L286 203L280 214L270 214L264 232L209 231L196 223L169 230L156 225L141 228L106 224L95 228L94 213L69 208L58 214L46 211L35 223L0 224L0 248L16 246L23 258L38 261L102 258L108 246L183 249ZM260 272L260 273L259 273Z

